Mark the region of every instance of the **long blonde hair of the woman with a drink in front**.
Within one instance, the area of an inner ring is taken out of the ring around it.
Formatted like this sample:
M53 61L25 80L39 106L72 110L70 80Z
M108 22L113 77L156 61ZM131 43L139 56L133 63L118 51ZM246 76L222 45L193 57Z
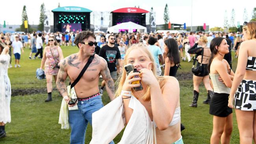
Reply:
M152 63L152 72L154 74L154 76L156 77L156 79L158 80L159 84L160 84L160 88L163 87L164 85L164 79L165 76L157 76L156 74L156 64L154 63L154 58L152 56L152 54L150 53L150 51L148 50L147 46L145 44L134 44L132 45L126 52L124 60L123 60L123 65L127 65L128 64L128 55L130 54L130 52L132 50L140 50L141 52L145 52L150 61L153 62ZM126 71L124 69L124 67L122 68L121 74L119 75L116 83L118 84L118 88L115 92L115 97L119 96L121 94L122 91L122 87L124 85L126 79ZM144 88L145 89L145 88ZM134 90L132 89L132 95L134 95ZM136 97L136 96L135 96ZM144 101L150 101L150 87L147 86L147 92L144 94L144 96L142 97Z

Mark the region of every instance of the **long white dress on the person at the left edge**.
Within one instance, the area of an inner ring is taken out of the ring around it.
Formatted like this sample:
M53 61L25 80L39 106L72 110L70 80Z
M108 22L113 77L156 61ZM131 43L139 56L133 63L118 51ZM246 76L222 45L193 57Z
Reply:
M0 122L11 122L11 83L8 77L10 55L0 55Z

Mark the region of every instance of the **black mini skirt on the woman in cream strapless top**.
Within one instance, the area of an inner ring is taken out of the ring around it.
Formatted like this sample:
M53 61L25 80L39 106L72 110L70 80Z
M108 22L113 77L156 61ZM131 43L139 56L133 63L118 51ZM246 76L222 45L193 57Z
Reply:
M228 96L229 94L214 92L209 113L214 116L226 117L232 113L232 109L228 107Z

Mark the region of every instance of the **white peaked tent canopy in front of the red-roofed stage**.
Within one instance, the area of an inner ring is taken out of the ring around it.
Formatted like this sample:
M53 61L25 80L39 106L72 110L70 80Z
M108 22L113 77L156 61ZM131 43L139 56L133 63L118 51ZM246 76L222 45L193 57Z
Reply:
M111 26L110 28L108 28L108 31L110 33L119 33L119 30L128 30L128 32L131 33L134 29L140 32L147 32L147 28L145 26L135 24L134 22L123 22L121 24Z

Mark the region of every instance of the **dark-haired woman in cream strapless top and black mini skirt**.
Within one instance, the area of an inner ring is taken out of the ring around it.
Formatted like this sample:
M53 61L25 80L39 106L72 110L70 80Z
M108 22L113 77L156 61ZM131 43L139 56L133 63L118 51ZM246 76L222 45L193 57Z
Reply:
M228 44L223 37L212 39L210 49L211 57L208 65L210 78L213 85L213 97L210 103L210 114L213 115L213 131L211 144L229 144L233 121L232 109L228 107L228 96L234 72L228 62L223 59L229 53Z

